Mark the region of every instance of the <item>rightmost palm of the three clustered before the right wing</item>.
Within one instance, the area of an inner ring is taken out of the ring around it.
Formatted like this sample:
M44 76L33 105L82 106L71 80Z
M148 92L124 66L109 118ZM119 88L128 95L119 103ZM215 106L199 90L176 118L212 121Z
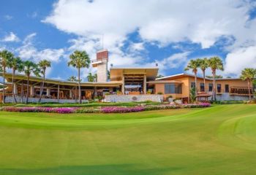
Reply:
M212 77L213 77L213 88L211 99L216 101L216 71L224 71L222 59L219 57L211 57L208 59L208 67L211 68Z

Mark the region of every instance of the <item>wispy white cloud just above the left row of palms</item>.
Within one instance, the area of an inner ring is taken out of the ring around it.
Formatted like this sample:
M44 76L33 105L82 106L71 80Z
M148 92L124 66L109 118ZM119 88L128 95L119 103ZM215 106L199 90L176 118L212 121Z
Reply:
M58 62L60 58L64 55L64 49L49 49L38 50L33 44L34 36L36 33L29 34L23 41L23 46L18 47L16 50L20 58L26 60L32 60L39 62L43 59L48 61Z

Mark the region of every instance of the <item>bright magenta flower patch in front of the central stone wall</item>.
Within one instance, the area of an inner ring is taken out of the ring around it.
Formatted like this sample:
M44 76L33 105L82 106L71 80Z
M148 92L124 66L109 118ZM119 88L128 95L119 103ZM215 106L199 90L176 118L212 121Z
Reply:
M143 106L134 107L118 107L118 106L108 106L102 107L100 109L103 113L124 113L124 112L142 112L145 108Z

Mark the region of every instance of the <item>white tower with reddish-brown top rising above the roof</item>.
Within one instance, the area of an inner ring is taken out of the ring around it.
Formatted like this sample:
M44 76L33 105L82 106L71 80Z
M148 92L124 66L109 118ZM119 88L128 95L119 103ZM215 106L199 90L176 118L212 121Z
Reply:
M108 50L97 52L96 60L92 61L92 66L97 67L97 82L108 81Z

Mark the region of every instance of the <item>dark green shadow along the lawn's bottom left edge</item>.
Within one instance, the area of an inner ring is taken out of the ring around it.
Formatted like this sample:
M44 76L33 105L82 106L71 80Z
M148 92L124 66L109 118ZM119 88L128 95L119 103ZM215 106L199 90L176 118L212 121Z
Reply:
M139 165L121 164L121 165L103 165L103 166L60 166L56 168L42 169L22 169L22 168L5 168L0 169L0 174L4 175L113 175L113 174L132 174L132 175L155 175L166 172L175 173L182 168L139 168Z

